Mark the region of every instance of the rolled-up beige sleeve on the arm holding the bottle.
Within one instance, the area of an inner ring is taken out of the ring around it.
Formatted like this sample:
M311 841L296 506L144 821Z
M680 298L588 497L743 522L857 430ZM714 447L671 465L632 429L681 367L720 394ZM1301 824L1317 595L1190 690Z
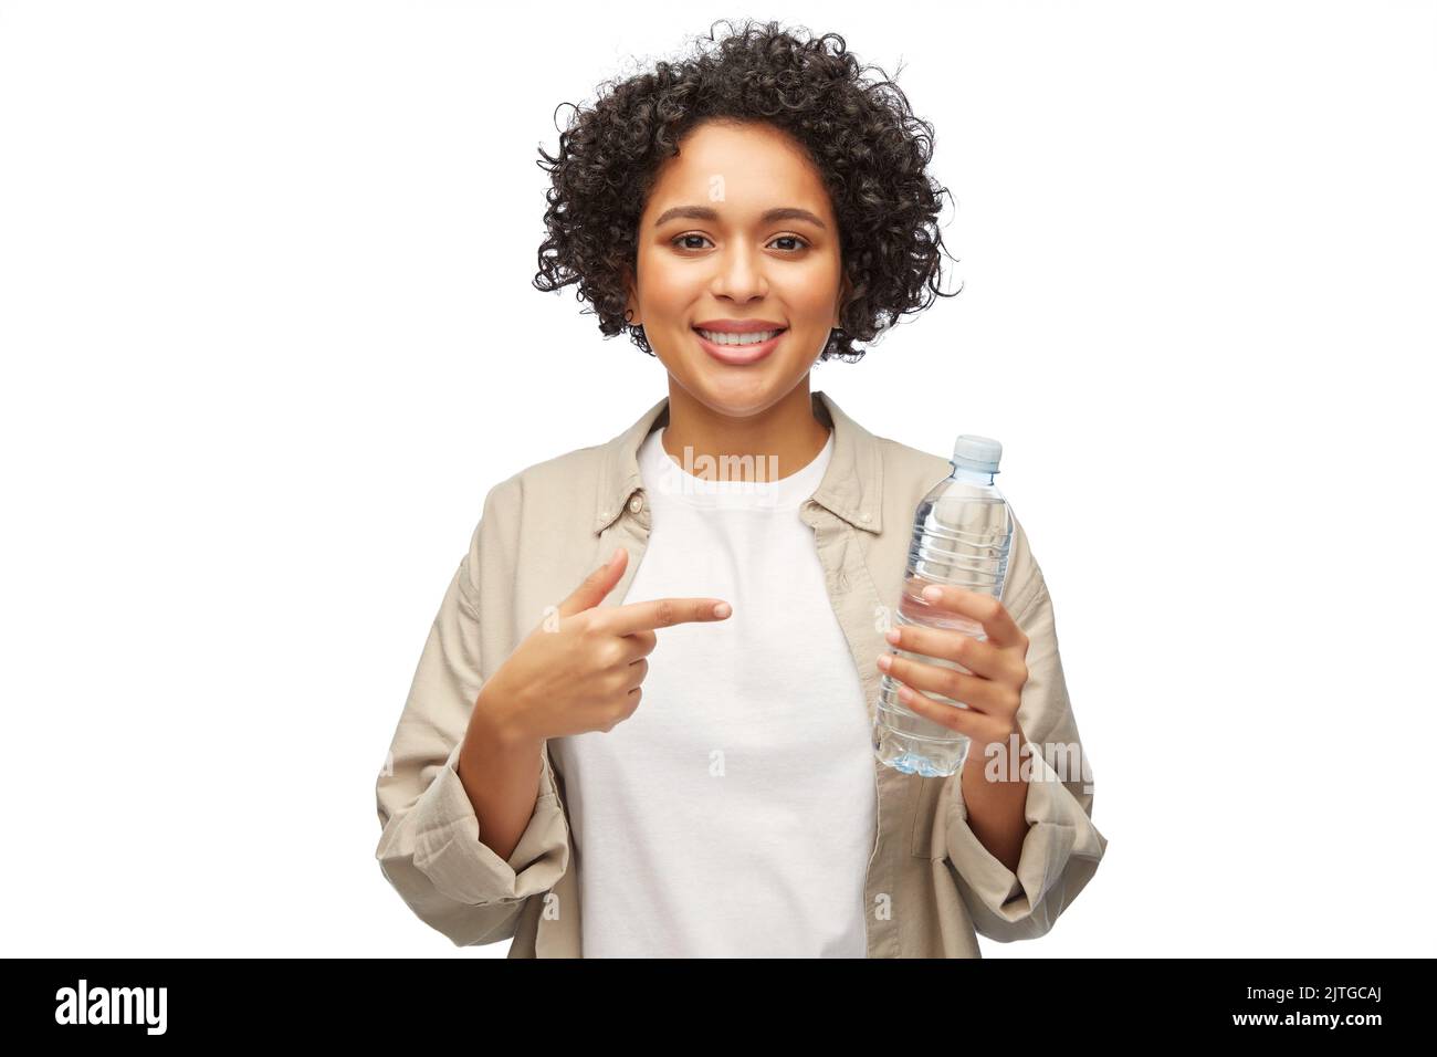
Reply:
M1029 639L1019 726L1032 745L1023 814L1029 830L1009 870L969 827L961 769L944 779L935 820L946 830L951 874L980 933L1000 942L1042 936L1092 880L1108 846L1092 823L1092 768L1068 699L1053 604L1017 532L1022 582L1013 618ZM987 765L989 761L984 761Z

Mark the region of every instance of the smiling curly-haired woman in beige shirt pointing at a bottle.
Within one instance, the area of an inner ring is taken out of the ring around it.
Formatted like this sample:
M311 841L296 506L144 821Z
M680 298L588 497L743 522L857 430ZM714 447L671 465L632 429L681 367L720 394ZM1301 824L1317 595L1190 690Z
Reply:
M979 932L1046 932L1096 869L1091 775L1032 752L1078 732L1022 526L1003 601L933 600L986 640L885 639L950 466L809 390L938 293L930 137L841 37L750 23L612 86L545 154L536 285L578 283L668 395L490 490L441 604L376 857L456 943L979 956ZM958 774L878 764L884 672L971 738Z

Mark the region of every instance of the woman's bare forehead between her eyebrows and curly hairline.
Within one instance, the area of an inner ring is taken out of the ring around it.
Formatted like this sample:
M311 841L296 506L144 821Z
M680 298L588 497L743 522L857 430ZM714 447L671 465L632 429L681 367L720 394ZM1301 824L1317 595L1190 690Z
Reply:
M660 167L644 207L652 221L671 206L710 206L739 217L772 206L800 206L831 217L828 190L803 147L782 129L708 122Z

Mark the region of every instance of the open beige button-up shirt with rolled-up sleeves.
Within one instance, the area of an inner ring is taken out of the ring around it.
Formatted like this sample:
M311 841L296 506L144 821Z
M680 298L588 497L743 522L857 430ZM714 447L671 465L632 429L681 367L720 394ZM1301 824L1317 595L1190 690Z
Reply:
M833 453L800 516L813 529L872 719L877 662L890 649L885 616L898 603L914 511L953 467L868 433L826 393L812 400L833 430ZM507 861L480 840L458 751L479 687L618 546L629 562L602 604L624 603L652 528L638 449L667 423L664 397L611 441L490 489L440 604L375 785L375 857L410 909L458 946L513 938L510 958L582 956L578 861L563 775L547 743L533 817ZM1092 769L1068 700L1052 600L1016 516L1002 601L1029 639L1017 719L1039 749L1017 871L969 828L961 772L923 778L875 756L877 841L864 886L869 958L979 958L980 933L1003 942L1040 936L1106 848L1092 824Z

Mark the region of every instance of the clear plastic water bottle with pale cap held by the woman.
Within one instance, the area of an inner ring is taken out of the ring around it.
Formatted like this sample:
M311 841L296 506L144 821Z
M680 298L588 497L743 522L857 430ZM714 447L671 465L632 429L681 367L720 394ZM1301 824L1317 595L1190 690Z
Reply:
M990 439L964 433L953 447L953 473L923 498L914 512L908 571L898 601L898 626L921 624L948 628L986 639L983 626L951 610L931 605L923 597L928 584L953 584L1003 595L1007 552L1013 541L1013 519L1007 500L993 477L1003 456L1003 446ZM954 660L925 657L890 647L890 653L924 664L969 672ZM930 700L950 708L961 702L933 690L911 687ZM951 775L969 754L969 736L935 723L904 706L898 683L884 674L874 719L874 752L888 767L925 778Z

